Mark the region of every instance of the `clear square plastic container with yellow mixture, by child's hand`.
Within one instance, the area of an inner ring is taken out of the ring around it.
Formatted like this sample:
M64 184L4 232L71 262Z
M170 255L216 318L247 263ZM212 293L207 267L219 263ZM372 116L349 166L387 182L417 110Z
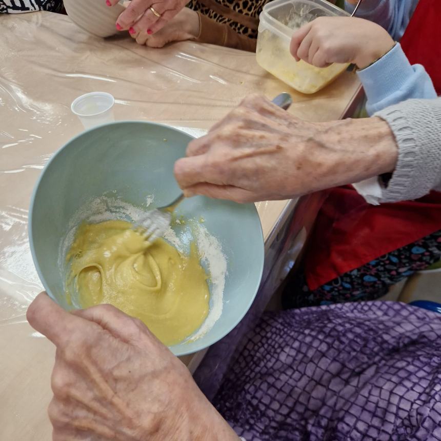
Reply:
M289 51L291 35L320 16L349 16L325 0L274 0L260 14L257 36L257 63L286 84L302 93L314 93L344 72L349 64L318 68L300 60Z

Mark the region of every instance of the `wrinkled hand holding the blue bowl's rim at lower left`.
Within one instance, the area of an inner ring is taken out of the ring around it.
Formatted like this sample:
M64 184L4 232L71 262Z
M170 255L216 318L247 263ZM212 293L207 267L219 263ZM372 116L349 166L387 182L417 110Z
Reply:
M39 294L29 323L56 346L53 439L237 439L187 368L147 327L110 305L73 313Z

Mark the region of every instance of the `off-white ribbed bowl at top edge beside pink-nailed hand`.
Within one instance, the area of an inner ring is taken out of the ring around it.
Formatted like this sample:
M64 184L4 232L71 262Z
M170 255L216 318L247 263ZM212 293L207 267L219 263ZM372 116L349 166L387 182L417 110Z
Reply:
M97 37L116 34L116 19L124 11L124 6L106 5L106 0L64 0L64 7L72 22Z

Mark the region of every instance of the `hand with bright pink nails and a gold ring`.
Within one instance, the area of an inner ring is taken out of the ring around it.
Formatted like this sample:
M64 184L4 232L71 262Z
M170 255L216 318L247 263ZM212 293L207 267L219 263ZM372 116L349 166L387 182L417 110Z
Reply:
M114 6L119 0L106 1L107 6ZM163 28L188 0L132 0L126 10L119 15L116 28L121 31L126 29L130 34L147 32L154 34Z

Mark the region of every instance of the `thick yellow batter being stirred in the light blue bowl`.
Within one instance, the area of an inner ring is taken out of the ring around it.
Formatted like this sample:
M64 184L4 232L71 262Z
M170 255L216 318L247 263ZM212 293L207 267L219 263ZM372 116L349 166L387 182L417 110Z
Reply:
M124 220L83 224L67 255L83 308L110 303L140 318L166 345L182 342L208 314L207 274L194 244L189 256L153 244Z

